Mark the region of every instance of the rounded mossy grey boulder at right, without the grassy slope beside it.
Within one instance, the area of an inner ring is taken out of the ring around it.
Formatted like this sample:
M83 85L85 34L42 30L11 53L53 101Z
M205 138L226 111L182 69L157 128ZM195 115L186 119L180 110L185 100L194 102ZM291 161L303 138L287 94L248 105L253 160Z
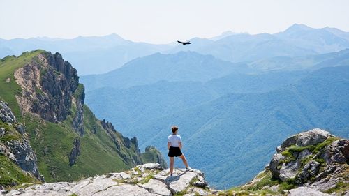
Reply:
M293 135L276 151L268 167L275 179L320 191L349 181L349 140L325 130Z

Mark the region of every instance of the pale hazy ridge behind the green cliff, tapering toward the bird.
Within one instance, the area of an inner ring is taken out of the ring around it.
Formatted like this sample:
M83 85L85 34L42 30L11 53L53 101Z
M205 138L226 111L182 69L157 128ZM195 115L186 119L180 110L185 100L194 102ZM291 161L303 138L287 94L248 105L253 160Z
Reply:
M124 40L117 34L108 36L79 36L73 39L60 38L15 38L0 39L0 58L20 55L24 51L59 51L73 63L79 75L106 73L140 56L168 50L169 45L135 43Z

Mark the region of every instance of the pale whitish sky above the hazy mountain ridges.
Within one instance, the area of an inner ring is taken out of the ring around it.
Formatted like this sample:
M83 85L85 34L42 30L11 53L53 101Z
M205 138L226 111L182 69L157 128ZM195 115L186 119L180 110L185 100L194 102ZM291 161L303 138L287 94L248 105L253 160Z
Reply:
M277 33L292 24L349 32L348 0L0 0L0 38L117 33L172 43L224 31Z

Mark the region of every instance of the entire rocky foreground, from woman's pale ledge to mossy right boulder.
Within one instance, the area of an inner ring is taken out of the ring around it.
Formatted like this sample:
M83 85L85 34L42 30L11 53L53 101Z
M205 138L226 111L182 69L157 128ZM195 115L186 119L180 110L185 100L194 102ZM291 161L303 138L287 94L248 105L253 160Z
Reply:
M151 149L151 148L150 148ZM349 195L349 140L314 129L277 147L269 165L244 186L209 188L196 169L168 169L147 163L73 183L43 183L5 195Z

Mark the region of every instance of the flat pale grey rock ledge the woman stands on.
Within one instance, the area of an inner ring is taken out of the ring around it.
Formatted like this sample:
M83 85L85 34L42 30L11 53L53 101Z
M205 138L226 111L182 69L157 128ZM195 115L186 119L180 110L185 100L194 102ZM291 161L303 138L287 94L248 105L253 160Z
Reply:
M197 186L200 185L200 186ZM196 169L175 169L174 176L158 163L139 165L128 172L90 177L73 183L43 183L10 190L4 195L212 195L204 174Z

